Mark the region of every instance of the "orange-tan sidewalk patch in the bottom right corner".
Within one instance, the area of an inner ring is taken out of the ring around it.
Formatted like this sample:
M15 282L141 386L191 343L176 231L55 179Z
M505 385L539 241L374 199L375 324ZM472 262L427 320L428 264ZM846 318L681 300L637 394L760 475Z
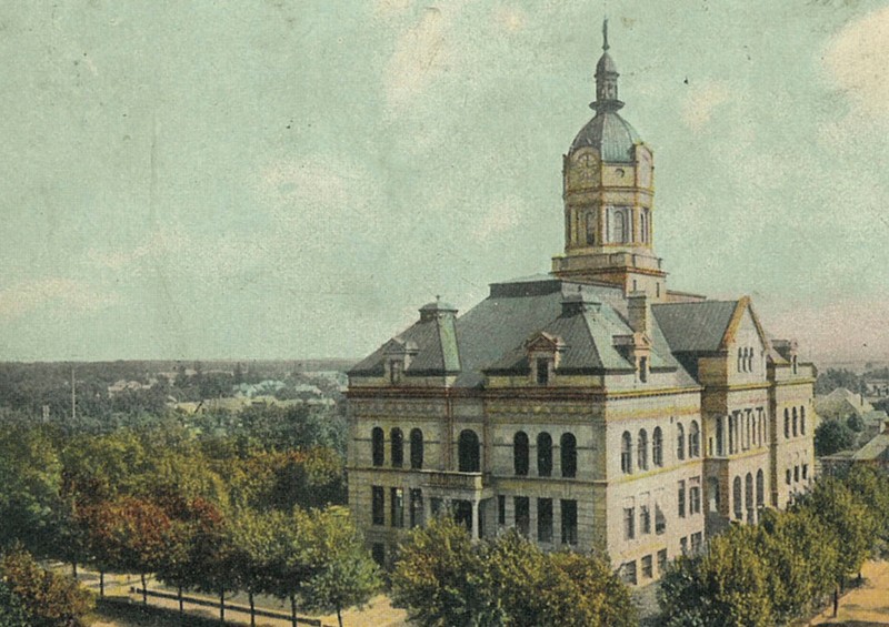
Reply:
M809 625L846 625L876 627L889 625L889 562L868 562L861 568L865 584L840 599L833 618L833 607L813 618Z

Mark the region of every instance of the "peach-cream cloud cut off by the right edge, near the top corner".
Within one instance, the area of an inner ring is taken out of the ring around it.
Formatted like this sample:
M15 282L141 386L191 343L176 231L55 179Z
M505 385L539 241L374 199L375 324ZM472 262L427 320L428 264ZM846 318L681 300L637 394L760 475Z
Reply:
M828 43L825 68L866 115L889 114L889 7L850 22Z

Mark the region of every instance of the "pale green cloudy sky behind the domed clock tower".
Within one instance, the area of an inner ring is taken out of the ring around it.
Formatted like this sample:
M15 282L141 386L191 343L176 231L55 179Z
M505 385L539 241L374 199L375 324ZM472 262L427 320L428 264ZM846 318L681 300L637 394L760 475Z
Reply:
M609 18L672 289L889 358L889 4L0 3L0 361L357 358L561 252Z

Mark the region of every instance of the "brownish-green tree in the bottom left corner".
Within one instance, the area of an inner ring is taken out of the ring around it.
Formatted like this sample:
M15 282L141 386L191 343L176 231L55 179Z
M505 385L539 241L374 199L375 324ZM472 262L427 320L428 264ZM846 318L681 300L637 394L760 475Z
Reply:
M73 578L44 570L22 549L0 560L0 579L19 599L20 605L11 609L13 617L14 613L26 613L30 627L82 625L81 618L94 606L89 590Z

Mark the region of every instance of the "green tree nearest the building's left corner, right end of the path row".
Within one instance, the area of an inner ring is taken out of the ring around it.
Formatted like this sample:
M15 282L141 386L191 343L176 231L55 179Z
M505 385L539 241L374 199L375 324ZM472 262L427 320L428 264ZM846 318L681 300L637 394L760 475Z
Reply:
M331 507L313 514L310 563L314 574L304 586L306 606L336 611L342 627L342 610L370 600L380 588L380 577L348 509Z

